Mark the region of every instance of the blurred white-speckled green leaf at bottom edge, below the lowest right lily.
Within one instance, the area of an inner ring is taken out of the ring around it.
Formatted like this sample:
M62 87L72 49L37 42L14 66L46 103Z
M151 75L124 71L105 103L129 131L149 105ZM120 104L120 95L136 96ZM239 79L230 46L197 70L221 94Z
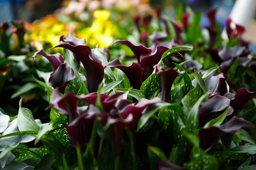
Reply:
M192 159L185 163L187 170L218 170L218 160L215 156L204 153L199 147L192 148Z

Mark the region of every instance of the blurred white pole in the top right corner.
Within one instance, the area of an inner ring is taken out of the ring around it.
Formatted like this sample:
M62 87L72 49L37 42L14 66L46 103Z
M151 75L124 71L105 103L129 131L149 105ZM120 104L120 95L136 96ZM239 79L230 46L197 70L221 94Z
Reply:
M248 27L256 11L256 0L236 0L230 18L239 25ZM222 32L224 40L228 40L226 30Z

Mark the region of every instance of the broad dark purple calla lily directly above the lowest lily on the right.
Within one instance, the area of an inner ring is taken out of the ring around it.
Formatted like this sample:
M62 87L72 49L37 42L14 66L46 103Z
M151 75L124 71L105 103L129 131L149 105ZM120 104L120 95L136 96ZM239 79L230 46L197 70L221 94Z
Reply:
M223 113L228 107L230 107L230 99L219 95L202 102L197 113L200 127L204 127L207 122L214 119L216 115ZM231 113L233 113L233 108L230 109L228 115Z

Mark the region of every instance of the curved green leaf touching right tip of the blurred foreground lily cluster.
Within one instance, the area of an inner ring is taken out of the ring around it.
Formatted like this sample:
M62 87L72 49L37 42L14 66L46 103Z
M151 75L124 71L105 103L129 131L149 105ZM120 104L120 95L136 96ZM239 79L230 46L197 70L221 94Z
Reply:
M163 108L163 107L169 106L169 105L173 105L173 104L166 103L166 102L159 102L159 103L155 103L153 105L148 106L145 113L143 113L143 115L140 117L140 120L139 120L138 126L137 126L137 131L140 130L146 124L148 119L151 118L151 116L153 116L154 113L159 111L160 108Z

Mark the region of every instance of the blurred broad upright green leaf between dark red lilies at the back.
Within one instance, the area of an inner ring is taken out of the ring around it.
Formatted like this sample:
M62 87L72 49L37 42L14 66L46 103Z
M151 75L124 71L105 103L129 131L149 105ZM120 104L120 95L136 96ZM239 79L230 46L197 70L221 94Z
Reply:
M194 15L193 21L188 28L188 34L187 34L188 43L194 46L198 45L198 41L201 38L200 21L201 21L201 12L198 12Z

